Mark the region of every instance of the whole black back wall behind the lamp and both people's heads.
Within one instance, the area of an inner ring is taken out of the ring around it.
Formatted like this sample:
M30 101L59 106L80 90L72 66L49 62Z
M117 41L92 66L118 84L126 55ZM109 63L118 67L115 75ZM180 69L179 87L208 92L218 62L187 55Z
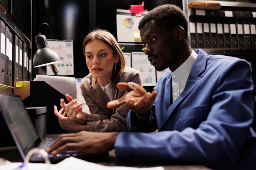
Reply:
M141 3L142 0L34 0L32 57L36 52L34 37L38 34L40 24L46 22L51 27L51 34L47 38L73 40L74 75L72 77L82 78L89 73L82 49L85 35L92 29L101 28L107 29L117 37L117 9L129 9L132 4ZM182 8L182 0L144 0L144 9L150 11L167 3ZM34 71L34 77L36 74L46 74L46 67Z

